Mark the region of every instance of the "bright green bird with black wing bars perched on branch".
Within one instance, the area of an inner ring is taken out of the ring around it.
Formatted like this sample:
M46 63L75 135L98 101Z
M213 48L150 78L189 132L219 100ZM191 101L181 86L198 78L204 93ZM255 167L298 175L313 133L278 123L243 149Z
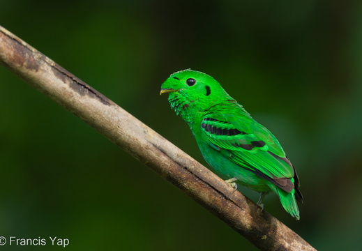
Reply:
M213 77L195 70L173 73L161 86L169 104L188 123L206 162L236 183L275 192L285 210L299 220L296 200L303 201L299 178L278 139L252 119Z

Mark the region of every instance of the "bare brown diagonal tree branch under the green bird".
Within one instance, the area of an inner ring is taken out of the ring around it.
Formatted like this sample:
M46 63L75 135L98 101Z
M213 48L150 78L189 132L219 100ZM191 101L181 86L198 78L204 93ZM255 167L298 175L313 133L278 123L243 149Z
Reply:
M0 63L137 160L186 192L261 250L315 250L294 231L82 82L0 26Z

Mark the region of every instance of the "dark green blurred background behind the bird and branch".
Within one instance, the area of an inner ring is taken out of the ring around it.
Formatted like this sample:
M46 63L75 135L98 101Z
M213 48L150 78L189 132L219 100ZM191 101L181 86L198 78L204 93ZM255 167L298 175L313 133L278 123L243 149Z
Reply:
M205 165L159 91L176 70L212 75L299 172L301 220L275 195L266 211L318 250L361 248L361 1L0 0L0 25ZM66 250L256 250L2 67L0 117L0 236L68 238Z

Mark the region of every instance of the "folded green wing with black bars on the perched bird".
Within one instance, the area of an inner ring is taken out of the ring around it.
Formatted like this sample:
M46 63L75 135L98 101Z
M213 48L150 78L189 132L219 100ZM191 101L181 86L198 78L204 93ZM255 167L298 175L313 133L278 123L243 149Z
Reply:
M294 167L278 139L248 114L238 113L206 114L201 123L206 140L237 165L290 192Z

